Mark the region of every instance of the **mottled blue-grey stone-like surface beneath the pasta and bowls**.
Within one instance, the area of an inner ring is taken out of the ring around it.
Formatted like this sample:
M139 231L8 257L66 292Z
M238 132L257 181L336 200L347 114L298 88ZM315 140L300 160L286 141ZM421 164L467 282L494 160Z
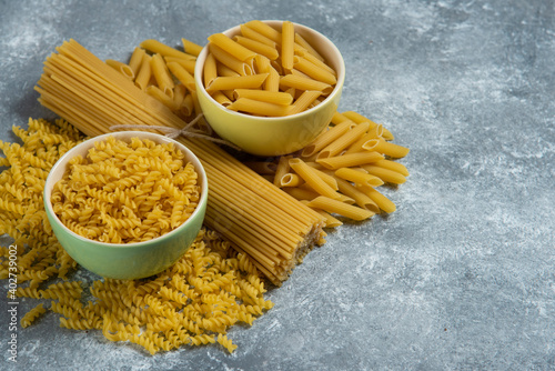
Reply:
M555 369L552 0L3 0L0 139L29 117L53 118L32 88L63 40L125 59L144 39L204 43L251 19L292 20L337 44L340 110L411 148L408 181L385 190L397 211L330 233L269 292L272 310L232 329L232 355L204 347L150 357L60 329L51 313L18 330L11 364L1 299L0 369Z

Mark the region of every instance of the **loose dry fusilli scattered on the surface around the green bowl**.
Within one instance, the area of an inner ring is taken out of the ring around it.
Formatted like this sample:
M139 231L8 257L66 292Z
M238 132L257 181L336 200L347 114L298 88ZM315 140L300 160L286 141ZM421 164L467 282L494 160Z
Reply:
M263 298L264 283L251 260L206 229L182 259L155 277L99 280L89 292L82 282L68 281L77 264L52 234L42 189L53 163L84 138L63 120L30 120L28 130L13 131L22 146L0 142L6 156L0 158L6 167L0 173L0 234L9 234L17 247L14 294L40 300L21 318L23 328L49 310L61 314L63 328L98 329L110 341L137 343L152 354L214 342L232 352L236 345L226 337L230 327L252 324L273 305ZM12 272L9 257L9 248L2 247L2 280ZM50 283L58 278L63 281Z

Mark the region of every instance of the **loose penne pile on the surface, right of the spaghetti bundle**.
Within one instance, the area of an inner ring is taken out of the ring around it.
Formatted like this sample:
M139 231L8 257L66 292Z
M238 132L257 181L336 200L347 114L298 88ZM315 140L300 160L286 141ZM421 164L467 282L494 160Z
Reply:
M408 149L392 143L393 139L382 124L360 113L335 112L329 128L300 152L246 164L319 211L332 228L342 224L334 217L337 214L360 221L396 210L376 190L383 184L402 184L408 177L406 167L394 161Z

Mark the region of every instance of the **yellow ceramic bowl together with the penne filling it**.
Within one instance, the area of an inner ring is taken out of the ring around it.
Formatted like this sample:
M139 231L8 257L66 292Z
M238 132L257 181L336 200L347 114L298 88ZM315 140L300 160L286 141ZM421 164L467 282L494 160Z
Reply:
M327 127L345 66L322 33L253 20L208 38L194 79L202 112L224 140L256 156L295 152Z

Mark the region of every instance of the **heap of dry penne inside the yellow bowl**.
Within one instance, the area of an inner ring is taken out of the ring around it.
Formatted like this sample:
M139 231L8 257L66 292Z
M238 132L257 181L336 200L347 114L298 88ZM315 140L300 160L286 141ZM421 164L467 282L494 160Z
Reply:
M208 38L203 83L215 101L242 113L282 117L302 112L332 92L335 70L292 22L278 29L253 20L240 28L232 38Z

